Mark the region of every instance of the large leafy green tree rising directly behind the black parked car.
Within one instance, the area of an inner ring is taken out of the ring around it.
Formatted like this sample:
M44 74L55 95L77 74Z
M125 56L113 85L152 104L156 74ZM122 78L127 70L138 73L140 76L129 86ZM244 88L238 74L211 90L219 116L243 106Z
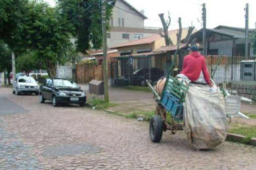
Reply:
M26 31L21 33L23 41L30 49L37 51L34 56L45 64L48 74L56 77L57 63L64 64L68 59L72 25L60 16L57 8L41 1L29 2L24 17Z

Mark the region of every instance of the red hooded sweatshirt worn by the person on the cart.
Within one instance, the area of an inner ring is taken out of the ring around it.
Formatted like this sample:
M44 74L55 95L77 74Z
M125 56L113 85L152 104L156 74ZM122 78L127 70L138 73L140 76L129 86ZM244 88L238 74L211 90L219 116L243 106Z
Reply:
M187 76L192 82L196 81L201 71L203 71L203 77L205 82L210 85L210 77L206 69L205 59L197 51L191 52L183 58L183 67L180 74Z

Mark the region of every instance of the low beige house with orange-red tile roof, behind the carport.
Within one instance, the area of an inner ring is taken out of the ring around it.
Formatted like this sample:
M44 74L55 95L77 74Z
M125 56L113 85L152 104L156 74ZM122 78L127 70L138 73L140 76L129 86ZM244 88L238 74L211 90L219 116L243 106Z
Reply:
M182 37L184 39L188 34L189 28L182 29ZM173 44L177 43L177 32L179 30L171 30L169 31L169 37L171 38ZM166 55L154 55L153 51L159 49L160 47L165 46L165 40L159 34L154 34L152 36L142 38L139 40L130 41L127 43L119 44L117 46L112 47L112 49L118 50L118 75L124 76L129 72L129 64L128 57L129 55L137 56L137 59L133 59L133 70L141 69L146 67L156 67L161 70L164 70L167 66L169 66L170 60ZM141 55L150 55L148 59L139 58ZM123 57L123 59L122 59Z

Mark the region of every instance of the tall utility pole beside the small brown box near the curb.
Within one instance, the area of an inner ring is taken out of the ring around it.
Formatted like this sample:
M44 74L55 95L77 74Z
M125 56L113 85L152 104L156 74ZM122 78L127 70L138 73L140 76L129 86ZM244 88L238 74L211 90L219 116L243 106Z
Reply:
M101 20L102 20L102 50L103 50L103 80L104 80L104 99L109 102L108 98L108 79L107 79L107 22L106 22L106 2L102 0Z

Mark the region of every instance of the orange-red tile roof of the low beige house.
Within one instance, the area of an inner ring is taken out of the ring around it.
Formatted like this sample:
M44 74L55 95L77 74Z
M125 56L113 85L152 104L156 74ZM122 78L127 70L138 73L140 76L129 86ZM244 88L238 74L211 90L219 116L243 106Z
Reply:
M171 34L176 34L177 31L178 31L178 29L169 31L168 32L169 36ZM154 35L151 35L149 37L141 38L139 40L134 40L134 41L130 41L130 42L127 42L127 43L119 44L117 46L111 47L110 49L116 49L116 48L127 47L127 46L136 46L136 45L141 45L141 44L150 44L150 43L155 42L155 40L158 40L159 38L162 38L161 35L154 34Z

